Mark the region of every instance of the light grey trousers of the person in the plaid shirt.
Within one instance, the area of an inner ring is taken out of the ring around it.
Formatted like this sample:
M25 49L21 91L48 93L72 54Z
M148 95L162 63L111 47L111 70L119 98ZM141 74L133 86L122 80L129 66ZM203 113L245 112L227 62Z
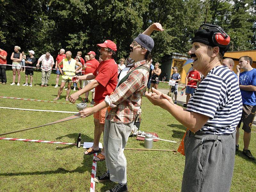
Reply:
M105 120L103 143L105 149L106 166L110 180L126 183L126 158L124 147L132 131L133 123L119 124Z

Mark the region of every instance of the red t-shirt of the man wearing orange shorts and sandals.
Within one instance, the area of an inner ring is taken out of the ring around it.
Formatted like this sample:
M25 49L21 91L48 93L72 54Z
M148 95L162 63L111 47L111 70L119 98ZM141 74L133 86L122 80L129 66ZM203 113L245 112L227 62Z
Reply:
M117 65L114 59L100 62L99 67L92 73L99 85L95 87L94 101L100 103L110 95L117 84Z

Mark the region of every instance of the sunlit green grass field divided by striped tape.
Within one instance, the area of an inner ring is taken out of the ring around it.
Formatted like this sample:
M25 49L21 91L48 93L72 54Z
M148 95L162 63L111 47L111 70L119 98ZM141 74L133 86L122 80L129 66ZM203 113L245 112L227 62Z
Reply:
M11 86L12 71L7 71L7 84L0 84L0 96L52 101L58 91L53 87L56 75L52 74L50 78L49 84L53 86L43 88L40 87L40 78L41 73L35 72L33 87ZM21 84L24 82L25 75L21 73ZM71 93L73 92L71 90ZM65 96L66 92L63 91L61 102L65 102ZM79 98L77 102L81 100ZM156 132L162 139L180 142L186 130L185 127L162 108L153 106L145 97L142 103L140 130ZM71 104L2 98L0 98L0 106L77 111L76 106ZM71 115L2 108L0 113L1 133L46 124ZM82 141L90 142L93 140L93 129L93 117L90 116L1 137L75 143L78 133L81 132ZM253 127L250 149L256 156L255 133L255 127ZM102 137L101 142L103 142ZM153 148L176 150L178 146L179 143L158 141L154 142ZM129 138L126 148L144 148L144 142ZM243 131L240 134L240 148L243 149ZM0 191L90 191L92 156L84 156L83 152L83 148L75 146L0 140ZM174 155L166 151L125 150L125 156L130 192L180 191L185 162L185 157L181 154ZM248 160L241 150L236 154L230 191L256 191L255 163L255 161ZM101 174L105 171L105 162L97 163L97 173ZM114 185L115 183L111 182L96 183L95 191L104 192Z

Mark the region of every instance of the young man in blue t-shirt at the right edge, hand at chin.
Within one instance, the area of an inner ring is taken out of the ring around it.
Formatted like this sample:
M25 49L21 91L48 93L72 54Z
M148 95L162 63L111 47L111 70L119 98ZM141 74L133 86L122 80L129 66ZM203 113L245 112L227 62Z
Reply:
M236 128L236 151L239 149L239 128L241 122L243 121L244 130L244 149L243 154L249 159L254 160L255 157L252 156L249 150L249 144L251 139L251 129L252 122L255 117L256 112L256 69L252 68L252 58L248 56L240 57L239 67L244 69L239 75L239 88L243 100L243 113L242 118ZM237 69L239 70L239 67ZM238 71L240 72L240 71Z

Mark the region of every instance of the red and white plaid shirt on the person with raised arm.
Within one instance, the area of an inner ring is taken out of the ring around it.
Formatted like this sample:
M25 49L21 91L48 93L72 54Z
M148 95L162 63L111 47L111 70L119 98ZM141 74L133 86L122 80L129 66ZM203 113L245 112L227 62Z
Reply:
M146 60L134 63L134 67L129 72L137 67L144 65L149 68L149 63ZM106 119L116 123L131 123L134 121L141 106L141 96L147 87L149 73L146 69L140 68L134 70L127 80L119 85L113 94L107 96L111 102L111 111Z

